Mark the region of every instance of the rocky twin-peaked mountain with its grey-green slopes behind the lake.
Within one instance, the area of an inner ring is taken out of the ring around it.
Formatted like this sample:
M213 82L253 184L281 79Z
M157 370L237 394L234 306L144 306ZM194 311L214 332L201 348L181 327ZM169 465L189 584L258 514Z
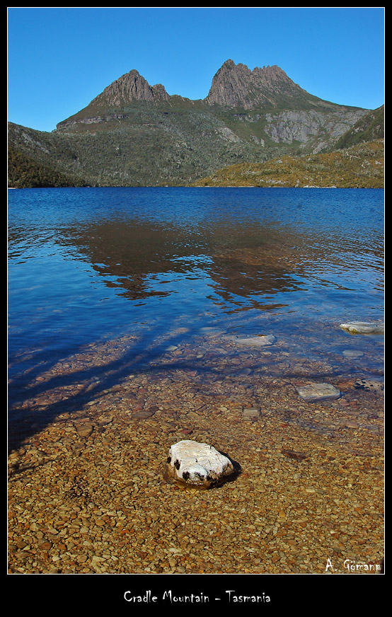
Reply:
M8 123L9 181L190 185L234 163L330 151L367 113L307 93L276 66L229 59L200 100L133 69L51 133Z

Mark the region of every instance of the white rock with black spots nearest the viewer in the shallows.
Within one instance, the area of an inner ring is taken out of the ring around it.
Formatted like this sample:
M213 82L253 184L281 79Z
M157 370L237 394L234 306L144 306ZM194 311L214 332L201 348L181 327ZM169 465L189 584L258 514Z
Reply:
M191 439L173 444L166 465L166 479L197 488L209 488L234 472L234 465L213 446Z

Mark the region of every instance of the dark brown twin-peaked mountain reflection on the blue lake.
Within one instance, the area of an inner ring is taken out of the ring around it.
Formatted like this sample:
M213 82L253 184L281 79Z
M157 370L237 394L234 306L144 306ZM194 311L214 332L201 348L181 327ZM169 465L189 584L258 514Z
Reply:
M253 249L248 245L254 243L255 229L242 226L235 231L217 227L190 233L171 224L103 221L63 229L57 241L91 263L106 286L117 287L132 300L172 293L177 275L186 275L188 281L209 277L225 301L233 295L247 299L301 287L298 275L304 276L304 270L284 248L287 231L272 233L265 226Z

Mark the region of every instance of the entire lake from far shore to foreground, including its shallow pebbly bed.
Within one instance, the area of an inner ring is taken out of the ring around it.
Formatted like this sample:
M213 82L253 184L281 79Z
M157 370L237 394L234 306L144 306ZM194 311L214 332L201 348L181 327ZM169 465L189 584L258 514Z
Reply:
M8 200L8 571L381 567L383 191ZM188 439L236 473L173 485Z

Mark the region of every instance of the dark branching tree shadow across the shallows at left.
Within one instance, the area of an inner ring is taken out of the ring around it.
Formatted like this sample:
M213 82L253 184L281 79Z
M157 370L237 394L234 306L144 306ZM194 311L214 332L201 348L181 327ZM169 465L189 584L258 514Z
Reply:
M156 335L156 338L154 338ZM187 333L189 335L189 333ZM17 376L9 386L8 393L8 451L18 449L26 440L34 434L42 431L61 414L68 413L78 417L86 410L88 403L98 401L107 396L108 390L114 386L121 386L130 375L144 374L152 376L156 372L173 371L181 366L181 361L168 359L161 362L162 357L168 353L168 345L178 345L183 342L183 333L171 334L170 328L166 328L166 336L161 329L148 330L137 340L130 340L131 345L120 354L104 364L101 363L100 352L93 351L98 359L98 364L90 364L90 358L86 360L86 367L77 371L64 374L52 374L49 379L35 381L43 371L53 370L59 362L71 362L71 359L80 359L83 350L74 350L68 357L58 357L42 362L40 366L31 369L26 379L25 374ZM158 340L163 339L163 340ZM107 343L103 342L103 353L107 352ZM113 341L116 347L117 339ZM124 345L121 342L120 345ZM84 350L90 356L91 348ZM158 365L151 364L159 361ZM35 381L32 384L32 381ZM69 390L69 388L74 389ZM40 397L50 396L53 390L64 390L66 398L52 401L42 409ZM34 399L38 399L38 405ZM29 405L29 401L32 401ZM33 402L34 401L34 402ZM91 413L86 410L86 413Z

